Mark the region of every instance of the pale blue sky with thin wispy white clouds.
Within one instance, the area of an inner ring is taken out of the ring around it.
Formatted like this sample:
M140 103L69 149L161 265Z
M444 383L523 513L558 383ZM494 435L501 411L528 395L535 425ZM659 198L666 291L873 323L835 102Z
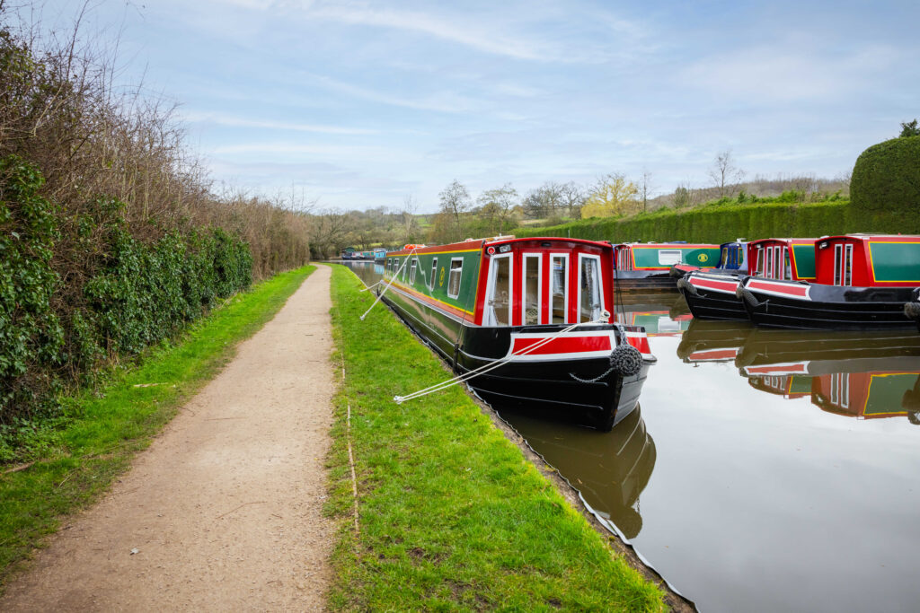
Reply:
M73 23L47 0L42 23ZM920 118L920 3L92 0L121 85L178 104L215 183L437 210L512 184L843 176Z

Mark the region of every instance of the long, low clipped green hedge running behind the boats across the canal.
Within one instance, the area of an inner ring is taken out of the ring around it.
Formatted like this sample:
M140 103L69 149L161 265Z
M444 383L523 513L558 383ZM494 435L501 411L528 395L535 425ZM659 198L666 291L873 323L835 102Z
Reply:
M517 236L570 236L612 243L684 240L714 244L739 237L753 240L857 232L920 233L920 215L858 209L843 199L753 204L722 199L696 209L657 210L627 218L595 218L512 231Z

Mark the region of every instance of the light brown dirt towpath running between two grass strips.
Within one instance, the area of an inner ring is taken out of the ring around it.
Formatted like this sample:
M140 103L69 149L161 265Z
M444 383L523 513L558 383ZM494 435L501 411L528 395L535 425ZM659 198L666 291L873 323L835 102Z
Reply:
M329 276L318 267L239 347L111 494L8 586L0 610L323 608Z

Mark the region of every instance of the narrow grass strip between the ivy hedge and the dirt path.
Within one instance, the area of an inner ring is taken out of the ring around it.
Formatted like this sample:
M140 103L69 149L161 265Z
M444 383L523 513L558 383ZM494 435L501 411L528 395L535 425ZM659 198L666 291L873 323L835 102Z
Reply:
M105 492L135 452L224 367L316 267L282 273L237 294L173 343L110 373L97 391L67 400L66 425L46 433L28 469L0 474L0 585L61 518ZM156 383L149 387L135 385ZM10 467L6 467L8 469ZM4 470L0 467L0 471Z

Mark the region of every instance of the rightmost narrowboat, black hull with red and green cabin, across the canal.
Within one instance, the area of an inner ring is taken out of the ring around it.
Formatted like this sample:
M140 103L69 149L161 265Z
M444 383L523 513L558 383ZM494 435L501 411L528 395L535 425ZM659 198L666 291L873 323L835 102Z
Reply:
M746 278L737 290L754 324L796 329L913 327L920 236L845 234L815 243L809 277Z

